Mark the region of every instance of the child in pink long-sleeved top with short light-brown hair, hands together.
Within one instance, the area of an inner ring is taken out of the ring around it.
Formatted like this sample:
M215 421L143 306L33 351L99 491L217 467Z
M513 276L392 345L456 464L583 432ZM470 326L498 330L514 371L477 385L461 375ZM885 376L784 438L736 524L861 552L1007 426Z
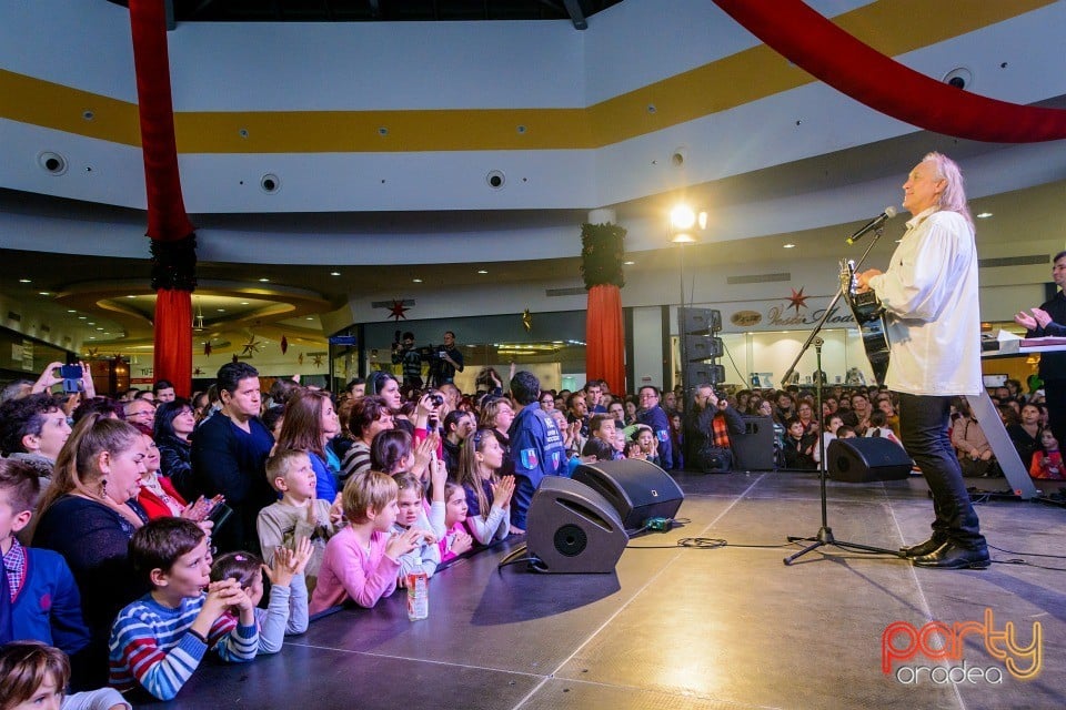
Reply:
M396 481L373 470L344 484L341 500L350 525L325 546L319 584L311 595L312 615L348 600L370 608L396 590L399 560L423 536L418 529L392 535L400 510L398 493Z

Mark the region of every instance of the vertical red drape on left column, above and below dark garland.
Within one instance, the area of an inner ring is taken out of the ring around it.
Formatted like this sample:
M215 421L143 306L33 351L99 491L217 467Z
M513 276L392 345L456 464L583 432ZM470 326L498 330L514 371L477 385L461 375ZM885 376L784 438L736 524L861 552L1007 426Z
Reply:
M180 240L192 234L178 172L167 16L163 0L130 0L130 27L148 194L148 236ZM159 288L155 294L155 379L169 379L188 397L192 388L192 295Z

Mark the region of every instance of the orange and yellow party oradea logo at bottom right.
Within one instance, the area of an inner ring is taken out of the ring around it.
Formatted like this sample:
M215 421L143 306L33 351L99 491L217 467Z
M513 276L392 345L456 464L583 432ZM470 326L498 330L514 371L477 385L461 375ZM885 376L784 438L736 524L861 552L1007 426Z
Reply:
M881 670L907 686L1002 686L1007 677L1033 680L1044 662L1044 630L1034 621L1028 643L1018 636L1013 621L997 627L988 608L983 621L929 621L918 628L894 621L881 635ZM994 662L986 666L975 658L984 655L975 646Z

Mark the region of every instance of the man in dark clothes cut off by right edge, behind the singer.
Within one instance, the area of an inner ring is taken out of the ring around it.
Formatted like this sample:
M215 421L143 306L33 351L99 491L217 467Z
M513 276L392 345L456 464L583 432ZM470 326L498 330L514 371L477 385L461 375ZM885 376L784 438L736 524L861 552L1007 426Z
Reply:
M1066 251L1055 254L1052 260L1052 281L1058 286L1058 293L1050 301L1030 308L1029 313L1019 312L1014 322L1028 328L1026 337L1066 337ZM1059 444L1066 436L1066 351L1040 354L1040 379L1044 381L1044 403L1052 432Z

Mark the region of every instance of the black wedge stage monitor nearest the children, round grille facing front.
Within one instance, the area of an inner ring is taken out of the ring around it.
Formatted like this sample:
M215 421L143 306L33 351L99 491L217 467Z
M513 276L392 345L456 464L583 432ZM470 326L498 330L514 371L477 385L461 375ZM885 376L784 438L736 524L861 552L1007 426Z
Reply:
M630 539L611 503L562 476L541 480L525 527L525 551L542 572L614 571Z

